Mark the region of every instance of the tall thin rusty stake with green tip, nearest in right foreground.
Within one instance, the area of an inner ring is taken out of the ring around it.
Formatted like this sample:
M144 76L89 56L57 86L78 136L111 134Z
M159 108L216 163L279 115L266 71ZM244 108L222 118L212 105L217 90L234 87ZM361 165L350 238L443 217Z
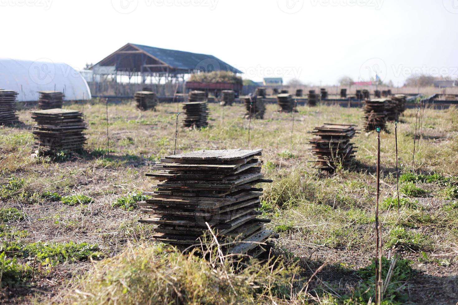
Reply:
M377 127L377 192L375 208L376 254L375 254L375 304L382 304L382 224L378 218L378 198L380 191L380 127Z

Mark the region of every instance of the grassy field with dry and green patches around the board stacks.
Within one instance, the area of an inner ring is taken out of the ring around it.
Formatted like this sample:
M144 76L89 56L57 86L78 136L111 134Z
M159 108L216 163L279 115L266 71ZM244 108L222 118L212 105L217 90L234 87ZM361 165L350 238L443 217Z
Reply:
M362 110L268 105L251 122L251 149L262 148L262 211L280 234L267 263L228 264L158 245L140 225L135 202L145 177L174 150L176 105L140 112L134 102L91 101L84 112L87 152L31 158L28 109L22 125L0 127L1 303L367 304L373 297L376 133L354 138L355 168L313 168L308 139L322 123L363 127ZM224 112L223 112L224 111ZM179 128L177 152L246 149L241 105L210 105L210 125ZM396 198L394 123L381 133L381 214L388 304L458 301L458 110L426 110L412 167L415 110L398 124L401 204ZM361 128L363 129L363 128ZM5 287L7 286L7 287Z

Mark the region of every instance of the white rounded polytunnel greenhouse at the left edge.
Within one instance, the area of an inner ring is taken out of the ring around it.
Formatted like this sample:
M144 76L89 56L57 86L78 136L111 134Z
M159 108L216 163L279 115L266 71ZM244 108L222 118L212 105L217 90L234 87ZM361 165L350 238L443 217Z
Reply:
M38 91L61 91L66 101L91 99L78 71L49 60L0 59L0 89L16 91L18 102L38 101Z

